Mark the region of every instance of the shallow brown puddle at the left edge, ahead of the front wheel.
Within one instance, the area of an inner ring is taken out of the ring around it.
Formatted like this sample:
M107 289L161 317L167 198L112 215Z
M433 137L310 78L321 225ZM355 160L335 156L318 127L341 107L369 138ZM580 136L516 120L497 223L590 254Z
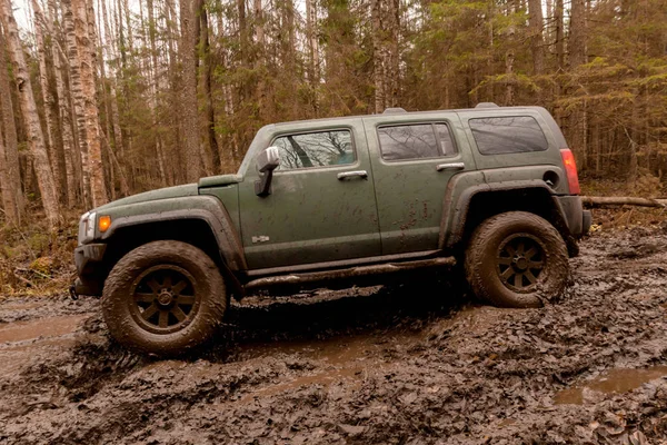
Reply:
M84 318L84 315L70 315L7 324L0 326L0 344L71 334Z

